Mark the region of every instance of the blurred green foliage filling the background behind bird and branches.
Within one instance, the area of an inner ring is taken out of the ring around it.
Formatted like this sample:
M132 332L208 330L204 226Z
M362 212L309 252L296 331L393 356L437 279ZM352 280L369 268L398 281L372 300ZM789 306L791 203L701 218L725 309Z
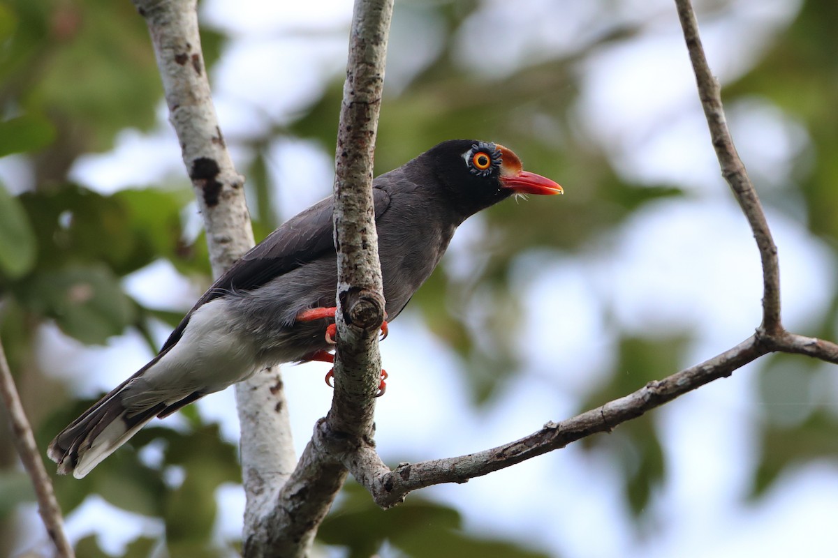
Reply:
M512 203L491 208L481 216L491 233L480 239L479 251L485 256L478 269L468 278L434 274L414 298L413 306L429 328L462 357L475 404L488 405L520 373L520 356L508 335L515 327L510 316L520 314L520 299L510 289L520 254L535 248L547 254L580 253L648 202L681 195L677 185L637 184L622 177L607 147L585 136L575 121L585 61L608 47L628 44L644 33L644 23L617 22L566 54L487 77L456 62L455 37L481 3L397 4L397 9L432 14L442 27L442 44L404 90L385 95L379 132L379 146L385 148L376 152L378 171L399 166L443 139L485 137L515 146L528 167L556 177L573 192L558 204L530 200L526 212ZM719 8L726 2L713 4ZM835 21L834 0L805 0L788 27L773 32L752 68L725 90L727 102L767 99L804 126L810 153L795 169L794 192L804 201L811 232L832 247L838 238ZM212 71L226 38L206 28L202 38ZM341 86L341 76L334 76L323 94L291 121L270 123L266 133L239 140L248 153L249 163L240 170L254 194L257 238L277 224L268 171L272 142L305 138L331 153ZM143 307L125 293L123 279L159 259L182 274L208 278L203 236L184 239L182 215L192 195L185 173L177 188L137 184L110 195L68 178L80 156L110 149L120 131L155 125L161 97L147 29L130 2L0 3L0 156L24 154L33 176L24 192L17 184L0 184L0 333L21 386L39 387L21 391L42 448L91 401L75 400L39 370L40 328L58 325L65 335L89 344L134 328L153 344L153 324L174 325L181 315ZM547 225L530 226L535 222ZM824 310L823 316L813 316L810 333L835 339L838 299ZM678 370L691 345L688 333L614 333L619 342L613 367L583 397L579 409L596 407ZM800 357L767 359L759 378L764 405L754 498L799 463L835 459L838 417L825 397L819 397L829 373L820 363ZM194 408L181 414L187 423L183 431L147 427L101 463L95 475L56 478L65 513L90 494L100 494L120 509L157 518L165 526L159 539L134 540L126 556L161 555L161 548L171 556L235 554L238 541L213 535L215 489L238 482L241 474L235 447L220 438L217 427L203 424ZM10 447L8 434L0 431L0 448L5 450ZM623 478L625 502L642 518L666 475L654 416L641 417L607 437L587 439L583 447L612 458ZM0 555L17 540L11 512L32 499L25 481L14 468L13 452L0 452ZM542 555L520 542L469 534L456 511L415 495L382 512L355 486L345 491L323 524L319 541L343 547L353 557L382 548L409 556ZM77 550L80 556L106 555L94 537L80 540Z

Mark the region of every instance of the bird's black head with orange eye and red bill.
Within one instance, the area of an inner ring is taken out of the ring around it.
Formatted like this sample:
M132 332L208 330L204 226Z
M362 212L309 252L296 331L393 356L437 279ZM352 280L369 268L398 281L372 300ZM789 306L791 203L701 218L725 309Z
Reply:
M564 193L549 178L525 171L511 149L489 141L443 141L422 158L432 166L463 218L514 194Z

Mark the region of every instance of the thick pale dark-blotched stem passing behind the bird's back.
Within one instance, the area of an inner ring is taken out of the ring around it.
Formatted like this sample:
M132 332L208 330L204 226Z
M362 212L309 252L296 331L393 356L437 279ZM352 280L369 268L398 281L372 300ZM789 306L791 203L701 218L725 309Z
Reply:
M198 29L195 0L134 0L146 18L163 79L169 120L207 232L213 274L219 276L253 246L244 179L235 171L215 115ZM260 371L235 386L241 422L241 468L247 496L245 538L276 499L295 463L282 377Z

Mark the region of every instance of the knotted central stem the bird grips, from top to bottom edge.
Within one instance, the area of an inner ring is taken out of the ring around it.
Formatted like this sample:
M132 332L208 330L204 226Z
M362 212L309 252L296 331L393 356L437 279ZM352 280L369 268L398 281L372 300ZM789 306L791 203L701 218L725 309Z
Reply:
M260 529L246 538L246 556L306 555L346 479L340 457L374 444L384 295L371 184L392 9L392 0L354 4L335 153L338 347L332 407L315 426L312 441Z

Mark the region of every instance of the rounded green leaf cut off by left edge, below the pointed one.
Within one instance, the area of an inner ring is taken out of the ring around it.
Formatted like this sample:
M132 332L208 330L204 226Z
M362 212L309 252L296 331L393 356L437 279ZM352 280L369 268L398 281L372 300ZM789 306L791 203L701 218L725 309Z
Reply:
M23 206L0 187L0 274L10 278L26 274L35 263L35 254L35 234Z

